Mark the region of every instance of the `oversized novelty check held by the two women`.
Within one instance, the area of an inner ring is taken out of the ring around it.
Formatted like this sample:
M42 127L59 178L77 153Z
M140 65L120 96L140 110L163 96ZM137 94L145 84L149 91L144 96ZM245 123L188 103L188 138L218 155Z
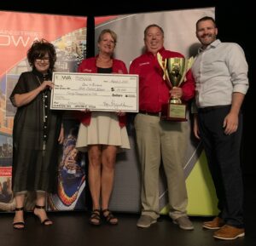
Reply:
M138 112L138 76L54 72L50 108Z

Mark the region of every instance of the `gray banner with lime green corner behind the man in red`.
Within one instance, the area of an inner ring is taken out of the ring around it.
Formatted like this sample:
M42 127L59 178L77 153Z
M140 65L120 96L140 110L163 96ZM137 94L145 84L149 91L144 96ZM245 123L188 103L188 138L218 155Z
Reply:
M144 29L150 24L157 24L165 31L165 48L180 52L189 58L197 54L197 49L200 47L200 43L195 37L196 21L206 15L213 17L214 12L214 8L205 8L99 16L95 20L95 40L103 29L109 28L115 31L118 36L115 57L125 61L126 67L129 68L131 61L142 54L144 50ZM132 116L130 119L131 122L128 124L127 130L131 150L117 156L110 209L138 213L141 210L141 171L137 158ZM195 140L193 133L190 132L187 143L183 170L189 196L188 214L216 215L218 213L217 198L201 142ZM166 214L169 210L167 193L166 177L163 170L160 169L159 203L162 214Z

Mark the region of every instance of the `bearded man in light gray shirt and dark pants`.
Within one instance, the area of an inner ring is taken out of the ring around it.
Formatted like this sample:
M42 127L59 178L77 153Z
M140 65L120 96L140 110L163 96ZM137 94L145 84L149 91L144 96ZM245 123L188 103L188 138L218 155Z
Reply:
M247 61L236 43L221 43L212 17L196 22L201 42L192 72L196 83L195 137L202 140L218 197L219 215L203 223L213 237L244 236L241 179L241 104L248 89Z

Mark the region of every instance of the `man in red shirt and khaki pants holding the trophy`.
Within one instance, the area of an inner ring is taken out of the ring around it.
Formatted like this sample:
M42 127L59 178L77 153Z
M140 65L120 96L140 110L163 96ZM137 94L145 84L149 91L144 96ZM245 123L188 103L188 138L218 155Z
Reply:
M195 95L195 81L187 72L180 87L168 87L157 60L159 52L164 59L183 57L166 50L164 31L155 24L144 31L146 52L132 61L131 74L139 75L139 109L135 118L137 148L142 170L142 215L139 227L149 227L159 217L159 169L162 159L166 172L170 212L173 222L183 230L194 226L186 214L188 196L183 174L183 160L189 139L188 122L161 120L170 96L188 101Z

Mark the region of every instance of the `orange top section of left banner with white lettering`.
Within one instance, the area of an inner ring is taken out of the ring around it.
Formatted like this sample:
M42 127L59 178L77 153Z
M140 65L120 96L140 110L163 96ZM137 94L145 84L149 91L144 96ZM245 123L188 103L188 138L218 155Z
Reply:
M0 77L22 58L34 40L49 42L84 28L86 17L0 11Z

